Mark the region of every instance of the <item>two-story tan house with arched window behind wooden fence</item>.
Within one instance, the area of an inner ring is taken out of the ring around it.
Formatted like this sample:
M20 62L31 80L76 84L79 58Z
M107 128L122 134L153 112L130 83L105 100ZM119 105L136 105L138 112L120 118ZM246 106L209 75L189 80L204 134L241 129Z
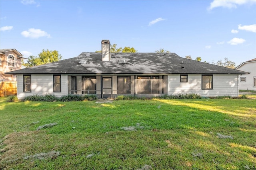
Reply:
M5 72L21 69L23 55L16 49L0 49L0 81L16 81L16 74Z

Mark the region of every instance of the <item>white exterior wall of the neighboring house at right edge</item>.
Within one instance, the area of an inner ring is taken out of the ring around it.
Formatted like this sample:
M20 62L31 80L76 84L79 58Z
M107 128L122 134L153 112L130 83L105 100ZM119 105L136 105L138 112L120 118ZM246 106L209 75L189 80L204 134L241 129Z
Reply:
M250 74L239 75L239 90L256 90L256 87L253 86L253 78L256 77L256 61L244 63L237 69L250 72ZM240 82L241 77L245 77L246 82Z

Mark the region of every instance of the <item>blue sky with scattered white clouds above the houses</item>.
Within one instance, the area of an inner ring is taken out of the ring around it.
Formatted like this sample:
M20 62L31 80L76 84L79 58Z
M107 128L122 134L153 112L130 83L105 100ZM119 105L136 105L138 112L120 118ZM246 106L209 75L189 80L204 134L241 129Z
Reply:
M0 49L68 59L101 50L102 39L238 65L256 58L256 0L0 0Z

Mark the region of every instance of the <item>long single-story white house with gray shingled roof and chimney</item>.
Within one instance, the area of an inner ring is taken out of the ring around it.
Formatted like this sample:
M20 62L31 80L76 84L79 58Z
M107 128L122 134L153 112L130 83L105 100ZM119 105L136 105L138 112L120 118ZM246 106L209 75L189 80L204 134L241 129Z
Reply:
M6 74L17 74L17 96L39 94L96 94L161 96L197 93L201 96L238 96L238 75L248 72L179 57L175 53L102 53L42 64Z

